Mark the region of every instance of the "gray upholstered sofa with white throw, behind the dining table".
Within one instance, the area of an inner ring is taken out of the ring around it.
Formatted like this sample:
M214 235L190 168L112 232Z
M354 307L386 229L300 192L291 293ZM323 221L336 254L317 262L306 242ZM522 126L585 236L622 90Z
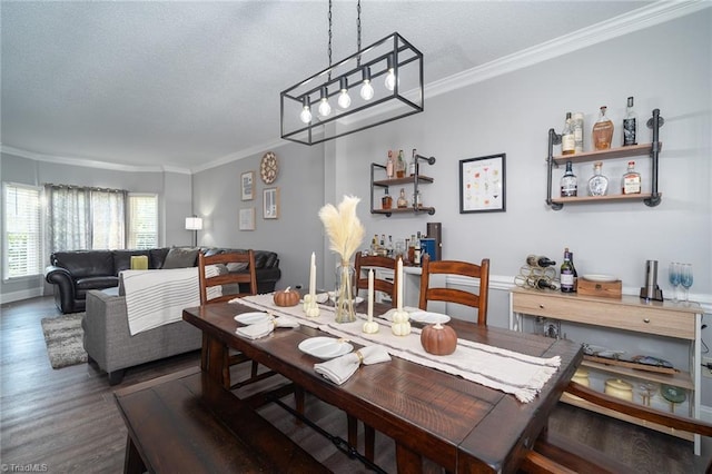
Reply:
M89 359L108 373L110 385L120 383L128 367L200 348L200 330L182 320L131 336L126 298L117 289L89 290L81 322Z

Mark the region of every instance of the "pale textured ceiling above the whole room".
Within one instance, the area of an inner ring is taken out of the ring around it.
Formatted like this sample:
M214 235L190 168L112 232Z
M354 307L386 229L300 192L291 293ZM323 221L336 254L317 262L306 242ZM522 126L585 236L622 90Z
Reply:
M649 1L362 1L362 43L399 32L425 82ZM328 66L328 2L1 3L3 147L195 169L279 140L279 92ZM335 1L333 59L356 51Z

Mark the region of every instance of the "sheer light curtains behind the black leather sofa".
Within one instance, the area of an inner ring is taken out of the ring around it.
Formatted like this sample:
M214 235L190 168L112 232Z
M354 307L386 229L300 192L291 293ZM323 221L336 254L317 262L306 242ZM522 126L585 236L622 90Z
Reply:
M126 191L44 185L46 255L123 248Z

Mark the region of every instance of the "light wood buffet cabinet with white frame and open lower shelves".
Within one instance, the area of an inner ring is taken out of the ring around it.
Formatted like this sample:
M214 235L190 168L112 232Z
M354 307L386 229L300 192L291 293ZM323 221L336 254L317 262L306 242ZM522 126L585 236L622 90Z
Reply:
M585 357L582 368L599 377L649 382L660 386L672 386L684 389L685 404L680 404L679 414L683 416L700 417L700 377L701 377L701 325L702 308L692 303L646 302L636 296L622 298L602 298L595 296L582 296L577 294L563 294L553 290L534 290L514 288L510 293L510 328L524 330L525 317L541 316L547 319L570 322L585 326L620 329L639 335L655 335L669 337L686 343L689 347L689 362L686 367L675 367L674 373L652 372L631 367L633 364L607 363L599 357ZM582 342L583 343L583 342ZM595 344L595 340L585 343ZM663 355L655 355L663 356ZM664 358L664 357L663 357ZM591 388L604 391L602 386ZM673 431L634 418L617 412L607 411L584 399L564 393L562 402L602 413L609 416L635 423L641 426L657 429L660 432L694 441L695 454L700 454L700 437L691 433ZM641 397L634 396L634 403L642 403ZM650 403L650 402L649 402ZM683 408L686 406L686 413ZM651 404L652 408L666 409L663 403ZM670 404L670 409L674 406Z

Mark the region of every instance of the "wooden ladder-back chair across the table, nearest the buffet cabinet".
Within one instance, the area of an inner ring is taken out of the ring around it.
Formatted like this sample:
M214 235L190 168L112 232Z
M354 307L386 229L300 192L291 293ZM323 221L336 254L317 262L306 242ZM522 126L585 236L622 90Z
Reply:
M490 294L490 259L479 265L459 260L431 261L428 255L421 263L421 297L418 307L427 310L428 302L457 303L477 308L477 324L487 325L487 299ZM479 279L479 292L471 293L457 288L434 286L432 275L457 275Z

